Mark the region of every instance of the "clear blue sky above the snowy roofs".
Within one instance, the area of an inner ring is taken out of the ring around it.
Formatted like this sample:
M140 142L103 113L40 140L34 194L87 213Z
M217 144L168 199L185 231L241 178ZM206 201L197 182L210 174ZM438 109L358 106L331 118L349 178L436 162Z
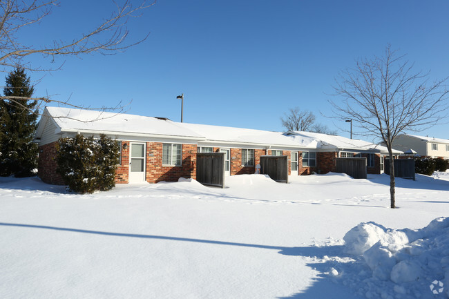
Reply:
M106 0L61 1L21 37L68 39L112 11ZM327 118L338 72L391 44L431 79L447 77L448 15L449 1L158 0L128 23L130 41L150 33L142 44L113 56L66 57L54 64L65 61L61 70L31 75L44 76L35 95L93 107L132 100L128 113L174 121L184 93L184 122L198 124L283 131L280 117L299 106L349 137L349 124ZM419 134L448 138L448 128Z

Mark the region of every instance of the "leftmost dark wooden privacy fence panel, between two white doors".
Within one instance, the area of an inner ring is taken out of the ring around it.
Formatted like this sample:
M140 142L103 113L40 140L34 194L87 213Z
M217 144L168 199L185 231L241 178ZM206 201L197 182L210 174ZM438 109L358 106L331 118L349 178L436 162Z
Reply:
M225 153L197 153L196 180L203 185L225 187Z

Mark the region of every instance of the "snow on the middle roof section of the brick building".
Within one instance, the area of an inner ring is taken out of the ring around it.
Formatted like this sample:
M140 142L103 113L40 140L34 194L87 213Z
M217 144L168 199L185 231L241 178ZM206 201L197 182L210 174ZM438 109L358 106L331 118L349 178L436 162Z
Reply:
M178 124L204 136L208 142L237 142L242 144L316 148L316 140L306 136L285 135L281 132L233 128L229 126L189 124L184 122Z

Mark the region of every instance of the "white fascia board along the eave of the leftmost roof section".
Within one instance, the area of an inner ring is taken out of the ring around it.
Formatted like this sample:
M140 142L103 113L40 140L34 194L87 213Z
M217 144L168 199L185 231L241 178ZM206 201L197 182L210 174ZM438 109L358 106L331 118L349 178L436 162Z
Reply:
M204 140L204 137L192 137L192 136L175 136L175 135L158 135L158 134L146 134L146 133L128 133L128 132L118 132L118 131L98 131L98 130L77 130L77 129L57 129L55 132L59 133L84 133L91 135L112 135L117 136L117 139L128 140L132 138L136 138L138 140L145 139L149 142L158 142L166 139L172 140L189 140L190 142L195 141L194 143L198 143L201 140ZM119 138L120 137L120 138Z

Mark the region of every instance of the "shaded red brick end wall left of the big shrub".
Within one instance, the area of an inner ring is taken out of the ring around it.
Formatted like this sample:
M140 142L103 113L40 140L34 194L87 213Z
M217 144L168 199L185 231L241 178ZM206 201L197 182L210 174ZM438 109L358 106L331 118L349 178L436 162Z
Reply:
M42 182L54 185L64 185L61 175L56 172L56 143L52 142L39 146L39 161L37 166L37 175Z

